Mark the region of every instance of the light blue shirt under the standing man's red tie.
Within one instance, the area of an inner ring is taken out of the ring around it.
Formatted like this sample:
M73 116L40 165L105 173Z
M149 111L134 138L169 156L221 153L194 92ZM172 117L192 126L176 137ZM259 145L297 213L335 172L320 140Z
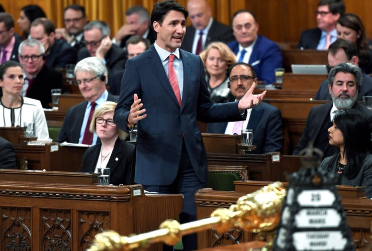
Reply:
M161 63L163 64L165 73L168 76L168 78L169 78L169 75L168 75L168 62L169 62L169 58L168 57L169 57L170 54L174 54L175 57L174 57L174 60L173 60L173 66L174 66L175 74L177 75L179 93L181 95L181 100L182 100L182 93L183 93L183 64L182 64L182 60L179 57L179 49L177 48L177 49L175 49L174 52L170 53L167 50L164 50L163 48L161 48L160 46L158 46L156 44L156 41L154 43L154 46L155 46L155 50L156 50L157 54L160 57Z

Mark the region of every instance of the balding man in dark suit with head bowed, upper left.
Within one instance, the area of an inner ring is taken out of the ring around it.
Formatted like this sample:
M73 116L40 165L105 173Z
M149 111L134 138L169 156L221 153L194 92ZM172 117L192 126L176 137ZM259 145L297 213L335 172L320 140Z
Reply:
M35 19L30 35L45 48L45 64L54 69L64 69L66 64L76 63L76 51L66 41L55 38L54 24L46 18Z

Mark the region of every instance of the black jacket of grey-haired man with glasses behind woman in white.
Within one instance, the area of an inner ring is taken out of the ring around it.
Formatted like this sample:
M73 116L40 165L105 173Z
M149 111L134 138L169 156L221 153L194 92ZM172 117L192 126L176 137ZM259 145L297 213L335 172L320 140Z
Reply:
M50 108L52 89L62 89L62 93L64 92L63 76L59 71L44 65L34 79L27 97L40 100L43 108Z

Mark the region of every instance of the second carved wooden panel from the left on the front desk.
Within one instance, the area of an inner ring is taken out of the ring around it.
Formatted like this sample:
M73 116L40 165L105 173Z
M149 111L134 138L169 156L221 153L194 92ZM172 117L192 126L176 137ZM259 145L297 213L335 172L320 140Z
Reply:
M71 251L72 226L70 210L41 210L42 250Z

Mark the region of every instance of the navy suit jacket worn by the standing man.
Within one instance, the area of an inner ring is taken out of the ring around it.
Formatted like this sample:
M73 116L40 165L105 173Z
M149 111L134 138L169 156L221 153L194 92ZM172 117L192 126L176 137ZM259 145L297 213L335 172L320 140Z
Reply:
M181 107L154 46L129 59L125 66L114 119L120 129L127 130L126 120L136 93L147 115L137 123L134 181L138 184L170 185L178 173L182 141L198 179L207 182L207 155L197 120L244 119L238 102L211 101L201 58L183 50L179 54L183 64Z

